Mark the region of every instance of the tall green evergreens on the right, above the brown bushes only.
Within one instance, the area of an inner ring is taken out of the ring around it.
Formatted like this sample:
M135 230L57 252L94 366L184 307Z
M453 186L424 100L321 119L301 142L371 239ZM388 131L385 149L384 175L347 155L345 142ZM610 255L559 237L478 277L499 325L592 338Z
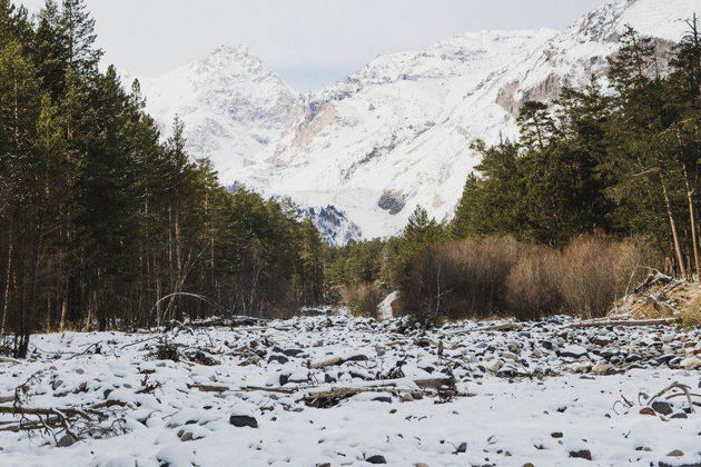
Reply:
M563 247L585 232L641 236L678 276L699 270L701 36L695 18L669 63L629 29L605 88L565 88L526 102L519 141L488 147L468 177L451 232L513 235Z

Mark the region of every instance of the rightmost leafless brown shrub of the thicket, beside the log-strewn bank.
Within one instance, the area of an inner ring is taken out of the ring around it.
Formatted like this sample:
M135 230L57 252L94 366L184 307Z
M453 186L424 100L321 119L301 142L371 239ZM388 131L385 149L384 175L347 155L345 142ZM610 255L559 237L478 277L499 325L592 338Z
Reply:
M562 252L556 285L569 314L601 317L644 276L641 266L655 264L652 251L634 240L583 236Z

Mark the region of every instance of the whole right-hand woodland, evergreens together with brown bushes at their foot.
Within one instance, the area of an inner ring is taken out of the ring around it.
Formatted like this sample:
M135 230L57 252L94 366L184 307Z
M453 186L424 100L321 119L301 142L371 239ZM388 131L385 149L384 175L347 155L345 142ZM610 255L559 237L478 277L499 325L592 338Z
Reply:
M418 207L402 235L342 250L329 279L357 304L399 290L397 311L428 322L601 316L641 266L701 277L695 18L689 29L671 61L629 29L606 77L525 102L516 141L474 142L482 161L450 222Z

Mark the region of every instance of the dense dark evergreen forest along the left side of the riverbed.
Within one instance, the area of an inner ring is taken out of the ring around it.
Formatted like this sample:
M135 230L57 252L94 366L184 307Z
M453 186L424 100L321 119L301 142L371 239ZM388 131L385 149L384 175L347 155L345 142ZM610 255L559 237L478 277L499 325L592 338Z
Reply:
M98 67L83 0L0 0L0 336L280 315L323 299L324 246L288 202L219 186Z

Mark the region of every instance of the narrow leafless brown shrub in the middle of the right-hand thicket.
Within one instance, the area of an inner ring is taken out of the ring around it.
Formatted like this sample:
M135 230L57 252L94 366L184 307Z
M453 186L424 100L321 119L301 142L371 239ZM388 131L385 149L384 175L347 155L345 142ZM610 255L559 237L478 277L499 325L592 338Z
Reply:
M564 306L557 287L562 255L540 247L521 258L509 274L506 305L519 320L540 319Z

